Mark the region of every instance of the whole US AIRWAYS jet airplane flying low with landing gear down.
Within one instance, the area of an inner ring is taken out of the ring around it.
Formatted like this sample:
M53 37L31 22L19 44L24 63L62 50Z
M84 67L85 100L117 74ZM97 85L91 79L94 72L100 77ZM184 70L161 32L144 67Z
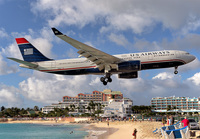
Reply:
M74 59L54 60L44 56L25 38L16 38L16 42L24 60L9 58L20 63L20 67L46 73L61 75L104 75L100 78L103 85L112 82L111 75L118 74L118 78L138 78L138 71L174 67L174 74L178 73L178 66L193 61L196 57L186 51L163 50L141 53L110 55L87 44L70 38L56 28L53 33L60 39L78 49L79 57Z

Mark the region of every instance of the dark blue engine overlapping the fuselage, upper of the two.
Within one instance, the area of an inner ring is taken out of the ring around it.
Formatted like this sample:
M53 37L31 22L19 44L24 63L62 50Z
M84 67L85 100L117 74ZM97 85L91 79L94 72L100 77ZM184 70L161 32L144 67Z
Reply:
M139 60L125 61L118 64L118 71L131 72L139 71L141 69L141 63Z

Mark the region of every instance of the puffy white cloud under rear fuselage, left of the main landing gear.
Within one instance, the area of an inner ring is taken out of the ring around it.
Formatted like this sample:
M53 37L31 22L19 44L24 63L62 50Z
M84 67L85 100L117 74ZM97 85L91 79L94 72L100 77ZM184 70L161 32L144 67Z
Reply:
M63 96L76 96L89 89L90 76L64 76L34 71L28 79L19 83L23 96L35 102L56 103ZM89 93L91 93L89 92Z

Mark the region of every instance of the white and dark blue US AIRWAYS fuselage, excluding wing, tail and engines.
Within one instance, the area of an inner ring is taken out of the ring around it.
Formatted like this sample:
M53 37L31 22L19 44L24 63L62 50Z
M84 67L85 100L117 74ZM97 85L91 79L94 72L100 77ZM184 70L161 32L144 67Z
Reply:
M140 67L137 71L178 67L180 65L187 64L195 59L193 55L190 55L185 51L177 50L129 53L114 56L120 58L122 61L140 61ZM104 74L103 70L100 71L97 65L88 60L87 58L51 60L34 63L38 65L38 67L34 68L34 70L47 73L63 75ZM27 68L27 66L23 64L21 64L20 66ZM122 71L112 69L110 73L120 74L122 73Z

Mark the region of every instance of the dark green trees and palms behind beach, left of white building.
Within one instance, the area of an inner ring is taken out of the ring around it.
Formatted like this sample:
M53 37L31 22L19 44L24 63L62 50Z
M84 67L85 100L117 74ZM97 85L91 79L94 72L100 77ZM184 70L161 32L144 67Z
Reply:
M88 105L88 107L85 107L84 105L79 105L76 107L74 104L70 105L69 108L54 108L53 111L49 112L48 114L42 113L38 106L34 106L34 108L5 108L4 106L1 107L0 111L0 118L9 118L9 117L68 117L68 116L75 116L73 114L70 114L70 112L77 112L80 113L81 117L86 116L95 116L99 115L100 113L103 113L102 106L100 103L94 103L91 101ZM88 110L88 113L85 113L86 109ZM81 114L82 113L82 114Z

